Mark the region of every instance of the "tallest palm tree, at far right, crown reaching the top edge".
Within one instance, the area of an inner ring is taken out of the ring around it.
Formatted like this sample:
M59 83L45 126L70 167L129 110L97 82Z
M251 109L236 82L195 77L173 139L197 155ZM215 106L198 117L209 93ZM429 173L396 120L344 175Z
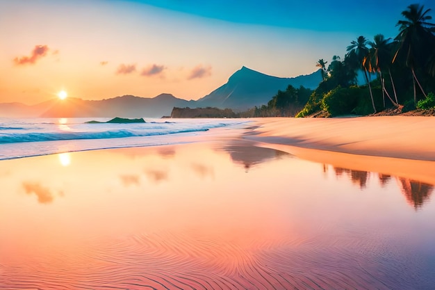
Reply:
M426 9L424 12L423 9L423 5L411 4L407 10L402 12L405 20L399 20L396 24L396 26L400 26L400 33L396 37L396 40L400 41L400 46L393 58L394 63L398 56L404 57L404 63L411 69L415 103L417 102L416 83L426 97L426 93L417 79L416 69L424 66L425 60L432 52L431 49L433 50L431 45L427 45L427 40L434 38L431 31L435 27L435 24L427 22L432 19L432 16L427 15L430 9Z

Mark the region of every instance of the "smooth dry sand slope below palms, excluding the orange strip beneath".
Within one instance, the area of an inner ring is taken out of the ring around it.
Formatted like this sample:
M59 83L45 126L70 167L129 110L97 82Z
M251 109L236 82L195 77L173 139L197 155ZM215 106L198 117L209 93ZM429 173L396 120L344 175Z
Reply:
M435 161L435 118L263 118L256 123L260 126L254 130L256 136L270 143Z

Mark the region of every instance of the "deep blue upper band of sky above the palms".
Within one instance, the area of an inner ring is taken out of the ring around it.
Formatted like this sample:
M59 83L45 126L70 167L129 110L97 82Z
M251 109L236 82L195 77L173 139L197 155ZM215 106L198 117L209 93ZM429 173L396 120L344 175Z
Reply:
M113 1L113 0L109 0ZM115 0L116 1L116 0ZM372 35L395 34L407 0L124 0L241 24L278 26L313 31L340 31ZM427 8L434 1L418 1ZM393 35L391 35L393 36ZM395 35L394 35L395 36Z

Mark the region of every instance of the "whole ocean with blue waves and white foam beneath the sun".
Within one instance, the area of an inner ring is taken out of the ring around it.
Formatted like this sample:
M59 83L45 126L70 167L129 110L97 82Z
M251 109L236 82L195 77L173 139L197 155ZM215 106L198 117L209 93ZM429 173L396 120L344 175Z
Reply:
M91 120L101 123L88 124ZM0 118L0 160L118 147L171 145L181 136L213 128L240 128L241 119L145 119L105 123L110 118Z

